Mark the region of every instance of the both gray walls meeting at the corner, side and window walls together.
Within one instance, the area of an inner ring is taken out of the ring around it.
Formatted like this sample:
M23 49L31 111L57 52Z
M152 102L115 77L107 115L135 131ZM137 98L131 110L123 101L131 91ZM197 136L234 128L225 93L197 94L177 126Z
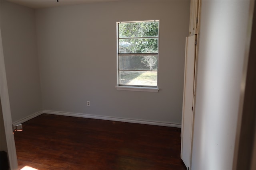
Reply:
M180 124L189 10L189 1L40 10L1 1L13 121L46 109ZM116 22L138 20L160 20L158 93L115 89Z

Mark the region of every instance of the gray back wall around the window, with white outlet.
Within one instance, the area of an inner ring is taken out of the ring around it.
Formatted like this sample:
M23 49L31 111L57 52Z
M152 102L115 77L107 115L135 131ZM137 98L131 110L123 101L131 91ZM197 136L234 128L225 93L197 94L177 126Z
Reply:
M189 1L36 10L43 108L180 124L189 11ZM116 22L140 20L160 20L158 93L115 89Z

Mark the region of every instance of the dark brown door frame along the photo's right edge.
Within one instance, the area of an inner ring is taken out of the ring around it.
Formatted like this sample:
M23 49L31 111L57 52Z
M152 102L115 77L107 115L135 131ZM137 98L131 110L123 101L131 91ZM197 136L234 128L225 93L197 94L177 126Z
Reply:
M256 168L256 2L250 1L233 170Z

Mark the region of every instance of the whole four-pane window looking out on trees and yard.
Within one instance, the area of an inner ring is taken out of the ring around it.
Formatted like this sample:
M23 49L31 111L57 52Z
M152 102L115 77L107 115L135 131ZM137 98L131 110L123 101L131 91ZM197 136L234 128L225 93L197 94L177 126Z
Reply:
M158 87L159 21L118 22L118 86Z

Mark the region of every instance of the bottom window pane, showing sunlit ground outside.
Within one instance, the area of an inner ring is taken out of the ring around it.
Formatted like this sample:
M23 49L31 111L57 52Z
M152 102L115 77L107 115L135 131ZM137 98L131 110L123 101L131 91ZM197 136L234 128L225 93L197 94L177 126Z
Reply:
M157 86L157 71L119 71L119 84Z

